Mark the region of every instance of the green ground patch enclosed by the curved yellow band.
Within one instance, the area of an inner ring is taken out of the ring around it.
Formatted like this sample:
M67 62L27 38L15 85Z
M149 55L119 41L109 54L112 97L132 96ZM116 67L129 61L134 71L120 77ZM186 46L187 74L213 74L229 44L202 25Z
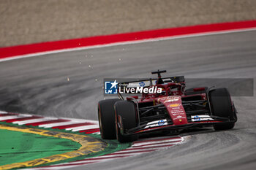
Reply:
M69 139L0 129L0 166L45 158L78 150L80 144Z

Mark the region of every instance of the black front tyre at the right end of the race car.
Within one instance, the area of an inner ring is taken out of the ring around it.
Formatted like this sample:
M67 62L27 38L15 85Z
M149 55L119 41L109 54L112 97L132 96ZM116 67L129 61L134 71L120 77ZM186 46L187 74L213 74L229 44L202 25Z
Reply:
M225 117L229 120L236 120L236 112L233 110L230 93L227 88L217 88L209 92L211 112L214 116ZM231 129L234 122L218 123L214 125L216 131Z

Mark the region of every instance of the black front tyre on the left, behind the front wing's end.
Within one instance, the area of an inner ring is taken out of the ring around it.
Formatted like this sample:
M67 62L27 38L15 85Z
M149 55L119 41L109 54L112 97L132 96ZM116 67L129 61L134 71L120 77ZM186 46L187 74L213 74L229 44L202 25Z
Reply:
M132 142L138 139L138 135L124 136L121 131L135 128L138 125L135 104L132 101L118 101L115 104L116 112L116 139L118 142ZM121 129L118 125L120 123Z

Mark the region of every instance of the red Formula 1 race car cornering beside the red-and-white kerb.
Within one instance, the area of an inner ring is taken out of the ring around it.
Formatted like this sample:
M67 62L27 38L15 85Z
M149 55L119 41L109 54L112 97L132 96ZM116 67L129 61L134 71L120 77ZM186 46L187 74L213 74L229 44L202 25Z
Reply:
M118 139L132 142L140 134L170 132L177 133L185 128L213 125L216 131L234 127L236 108L226 88L191 88L185 90L184 77L140 80L119 83L129 89L138 83L143 88L162 89L160 93L145 93L124 100L119 98L99 101L98 117L102 139ZM129 90L127 90L129 91ZM148 91L146 91L148 92Z

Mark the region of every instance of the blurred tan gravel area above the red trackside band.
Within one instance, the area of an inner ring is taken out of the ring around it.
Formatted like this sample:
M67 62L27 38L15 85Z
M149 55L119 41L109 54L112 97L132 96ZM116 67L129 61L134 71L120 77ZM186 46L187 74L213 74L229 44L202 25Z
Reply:
M256 18L255 0L1 0L0 47Z

